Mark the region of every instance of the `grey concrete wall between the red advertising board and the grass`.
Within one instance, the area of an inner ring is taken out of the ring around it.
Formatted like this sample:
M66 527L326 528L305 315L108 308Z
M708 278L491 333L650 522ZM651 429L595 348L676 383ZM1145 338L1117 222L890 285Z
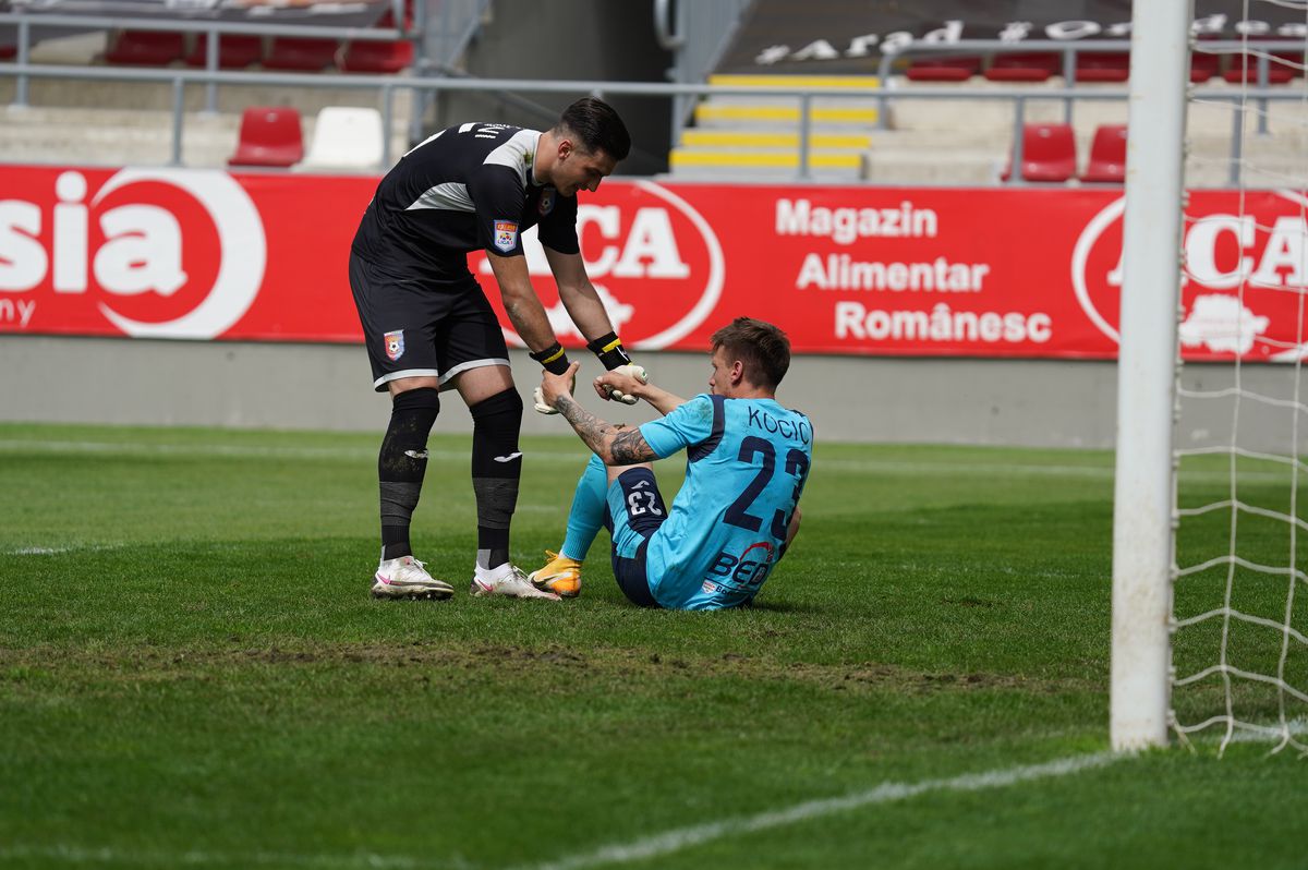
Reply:
M513 357L530 404L539 366L525 353ZM585 375L598 374L589 353L573 357ZM706 390L705 355L638 357L674 392ZM1182 386L1222 390L1233 374L1230 365L1188 365ZM808 413L824 440L1112 447L1116 378L1112 362L799 356L780 398ZM1294 399L1292 366L1243 366L1240 379L1247 391ZM640 423L651 413L606 404L585 390L579 395L612 420ZM1179 446L1231 442L1232 398L1185 399L1182 409ZM388 413L357 345L0 336L4 421L381 430ZM1294 413L1245 398L1237 442L1287 453ZM437 430L467 432L470 425L451 394ZM523 430L566 432L557 417L531 412Z

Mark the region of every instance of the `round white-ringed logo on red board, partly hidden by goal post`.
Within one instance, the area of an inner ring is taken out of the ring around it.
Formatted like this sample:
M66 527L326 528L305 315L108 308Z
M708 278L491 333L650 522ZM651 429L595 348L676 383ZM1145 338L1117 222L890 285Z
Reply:
M1071 256L1076 301L1118 341L1125 198L1082 230ZM1193 194L1185 215L1177 330L1188 356L1294 360L1308 351L1298 298L1308 284L1308 199L1294 191Z

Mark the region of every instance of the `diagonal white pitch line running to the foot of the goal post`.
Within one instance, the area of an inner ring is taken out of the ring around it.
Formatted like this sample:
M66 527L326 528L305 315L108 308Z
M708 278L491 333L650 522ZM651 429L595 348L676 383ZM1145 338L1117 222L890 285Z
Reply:
M1113 752L1097 752L1095 755L1078 755L1045 764L1032 764L1027 767L988 771L985 773L967 773L951 780L925 780L922 782L884 782L867 792L855 792L840 798L825 798L820 801L806 801L785 810L772 810L757 815L697 824L688 828L675 828L653 837L642 837L632 843L607 845L594 852L586 852L557 861L534 863L515 870L582 870L583 867L598 867L613 863L629 863L632 861L646 861L659 856L680 852L691 846L697 846L722 837L766 831L786 824L819 819L836 812L859 810L876 803L893 803L906 801L929 792L981 792L985 789L1002 789L1029 782L1032 780L1046 780L1061 776L1070 776L1110 764L1118 759L1129 757Z

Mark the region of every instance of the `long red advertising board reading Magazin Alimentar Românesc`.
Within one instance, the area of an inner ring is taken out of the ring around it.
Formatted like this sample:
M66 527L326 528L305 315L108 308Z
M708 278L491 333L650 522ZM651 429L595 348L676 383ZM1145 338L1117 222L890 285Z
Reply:
M357 341L347 259L377 181L0 166L0 334ZM1300 353L1305 203L1192 195L1188 358ZM798 352L1112 358L1122 207L1120 188L610 181L582 194L578 233L634 348L704 349L748 314ZM556 334L577 345L527 250ZM498 306L485 255L470 267Z

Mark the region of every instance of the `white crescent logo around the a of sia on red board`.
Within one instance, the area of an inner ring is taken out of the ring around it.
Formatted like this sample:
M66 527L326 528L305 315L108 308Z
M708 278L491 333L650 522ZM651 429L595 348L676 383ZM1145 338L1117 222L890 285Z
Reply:
M60 177L63 187L85 181ZM124 169L90 201L103 239L94 258L101 313L133 338L213 339L250 310L263 284L259 209L216 170ZM213 228L205 239L203 226ZM184 232L183 232L184 228Z

